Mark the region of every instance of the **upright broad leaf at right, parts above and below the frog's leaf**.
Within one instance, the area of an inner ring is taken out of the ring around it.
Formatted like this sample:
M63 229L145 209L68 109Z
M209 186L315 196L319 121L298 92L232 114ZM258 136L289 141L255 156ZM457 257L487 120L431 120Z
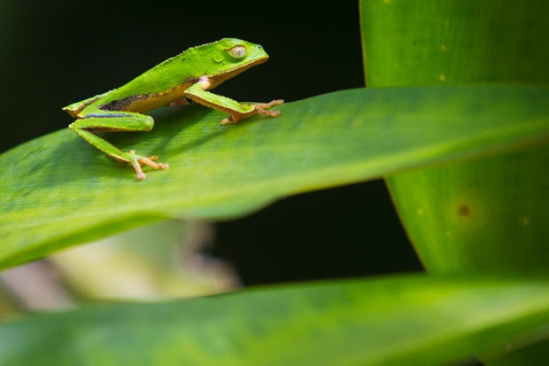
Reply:
M549 2L363 0L361 10L368 86L549 82L549 48L539 47ZM426 268L547 271L549 175L540 172L548 159L544 144L390 175L391 196Z

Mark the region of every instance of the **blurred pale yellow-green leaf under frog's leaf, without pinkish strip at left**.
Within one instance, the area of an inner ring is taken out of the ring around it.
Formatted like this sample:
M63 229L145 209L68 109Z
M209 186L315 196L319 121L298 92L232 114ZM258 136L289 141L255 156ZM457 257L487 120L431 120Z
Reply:
M227 263L199 253L213 226L171 220L58 253L50 261L66 282L93 299L159 300L234 290Z

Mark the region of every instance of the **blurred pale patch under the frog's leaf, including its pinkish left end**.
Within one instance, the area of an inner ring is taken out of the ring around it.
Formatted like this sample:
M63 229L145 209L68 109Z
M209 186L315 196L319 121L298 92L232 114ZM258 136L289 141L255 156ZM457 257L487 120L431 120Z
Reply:
M71 308L89 300L160 300L227 292L239 285L226 262L200 253L212 240L205 222L172 220L0 273L4 299L21 309ZM6 310L7 311L7 310Z

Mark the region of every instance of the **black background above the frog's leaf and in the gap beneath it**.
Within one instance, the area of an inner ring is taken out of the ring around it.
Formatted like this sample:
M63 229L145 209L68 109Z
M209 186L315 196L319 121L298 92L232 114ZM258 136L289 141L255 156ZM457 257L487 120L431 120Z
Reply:
M61 107L227 36L261 43L271 58L221 95L293 101L364 86L358 1L2 3L2 152L66 128ZM220 222L210 252L233 262L244 284L421 270L383 181Z

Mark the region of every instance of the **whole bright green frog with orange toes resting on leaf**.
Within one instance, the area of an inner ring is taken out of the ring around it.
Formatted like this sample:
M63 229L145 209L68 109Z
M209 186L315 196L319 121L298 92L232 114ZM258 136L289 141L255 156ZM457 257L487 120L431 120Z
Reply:
M276 117L280 111L268 109L281 105L282 100L244 105L207 91L267 58L259 44L224 38L189 48L118 89L67 105L63 110L77 119L69 128L112 158L131 164L141 181L145 178L143 165L166 169L168 164L157 162L157 156L138 155L134 150L122 152L97 136L96 131L150 131L154 121L142 113L165 105L184 105L187 99L229 113L221 124L236 123L256 113Z

